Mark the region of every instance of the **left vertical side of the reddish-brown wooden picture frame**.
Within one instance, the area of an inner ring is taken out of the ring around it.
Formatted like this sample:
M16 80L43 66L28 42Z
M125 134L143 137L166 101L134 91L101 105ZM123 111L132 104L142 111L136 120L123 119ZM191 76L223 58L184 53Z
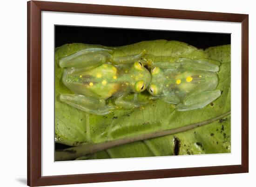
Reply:
M27 184L41 177L41 13L28 2L27 41Z

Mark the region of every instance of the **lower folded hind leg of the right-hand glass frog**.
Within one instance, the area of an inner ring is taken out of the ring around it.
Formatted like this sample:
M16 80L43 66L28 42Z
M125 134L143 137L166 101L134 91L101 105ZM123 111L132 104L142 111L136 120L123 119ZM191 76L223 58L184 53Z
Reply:
M183 100L183 104L178 104L178 111L194 110L203 108L212 101L216 100L221 95L220 90L206 91L202 93L192 94L187 99Z

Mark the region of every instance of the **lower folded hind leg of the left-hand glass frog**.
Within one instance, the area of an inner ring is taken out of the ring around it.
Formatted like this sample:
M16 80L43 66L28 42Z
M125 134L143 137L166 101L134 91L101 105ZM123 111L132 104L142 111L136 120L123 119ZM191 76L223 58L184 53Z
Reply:
M110 113L110 110L114 109L114 106L106 105L105 100L96 95L87 96L65 93L60 95L60 100L72 107L91 114L104 115Z

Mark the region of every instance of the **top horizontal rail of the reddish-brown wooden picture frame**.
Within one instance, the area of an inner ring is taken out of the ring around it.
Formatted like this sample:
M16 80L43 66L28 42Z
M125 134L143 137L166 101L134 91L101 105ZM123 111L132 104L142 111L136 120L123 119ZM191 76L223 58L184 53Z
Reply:
M215 20L242 22L246 14L237 13L215 13L202 11L171 10L160 8L143 7L121 7L110 5L92 5L81 3L59 3L47 1L34 1L41 10L51 10L56 12L74 13L99 13L112 15L143 16L156 18L177 18L189 20Z

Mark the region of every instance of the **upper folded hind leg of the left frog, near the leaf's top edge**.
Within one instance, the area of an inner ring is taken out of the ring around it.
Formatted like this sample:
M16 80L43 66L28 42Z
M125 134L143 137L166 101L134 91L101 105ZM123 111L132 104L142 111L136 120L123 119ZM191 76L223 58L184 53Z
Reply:
M90 67L105 63L112 58L110 49L87 48L60 59L60 67Z

